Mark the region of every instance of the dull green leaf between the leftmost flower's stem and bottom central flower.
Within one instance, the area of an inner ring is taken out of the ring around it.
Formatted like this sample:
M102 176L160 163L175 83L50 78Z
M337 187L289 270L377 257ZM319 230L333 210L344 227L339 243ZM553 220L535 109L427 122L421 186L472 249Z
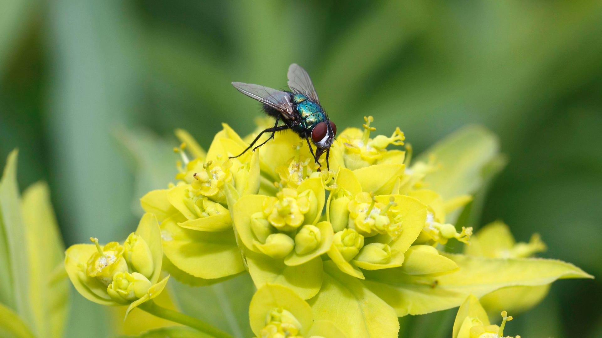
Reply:
M253 335L249 327L249 302L255 286L249 274L240 274L211 286L191 287L172 282L174 301L183 313L211 323L235 337Z

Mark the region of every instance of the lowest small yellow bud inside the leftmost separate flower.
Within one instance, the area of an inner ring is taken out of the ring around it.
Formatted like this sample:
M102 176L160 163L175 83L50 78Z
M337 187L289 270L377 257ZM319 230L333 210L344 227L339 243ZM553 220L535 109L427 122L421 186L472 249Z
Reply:
M146 295L151 286L151 281L138 272L118 272L113 276L113 283L107 287L107 293L114 301L128 304Z

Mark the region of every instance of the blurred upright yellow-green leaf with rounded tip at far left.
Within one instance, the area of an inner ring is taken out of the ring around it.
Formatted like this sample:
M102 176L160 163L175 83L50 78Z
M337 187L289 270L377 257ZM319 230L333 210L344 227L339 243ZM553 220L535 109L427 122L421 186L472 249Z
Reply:
M29 302L38 337L61 337L69 308L64 245L45 183L23 193L23 220L29 252Z

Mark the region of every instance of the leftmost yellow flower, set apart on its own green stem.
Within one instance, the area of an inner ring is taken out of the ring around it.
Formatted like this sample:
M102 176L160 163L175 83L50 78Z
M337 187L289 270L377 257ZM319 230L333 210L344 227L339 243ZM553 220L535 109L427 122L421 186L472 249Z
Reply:
M127 315L163 291L169 276L159 281L163 250L154 215L144 214L125 248L117 242L101 246L98 239L91 240L94 245L76 244L65 252L65 269L82 296L103 305L129 305Z

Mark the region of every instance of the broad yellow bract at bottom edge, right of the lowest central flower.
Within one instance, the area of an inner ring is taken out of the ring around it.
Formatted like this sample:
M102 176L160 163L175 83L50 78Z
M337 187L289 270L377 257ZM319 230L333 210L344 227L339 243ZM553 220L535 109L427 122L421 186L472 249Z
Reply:
M397 337L395 310L330 261L324 262L320 293L308 302L315 321L333 322L347 337Z

